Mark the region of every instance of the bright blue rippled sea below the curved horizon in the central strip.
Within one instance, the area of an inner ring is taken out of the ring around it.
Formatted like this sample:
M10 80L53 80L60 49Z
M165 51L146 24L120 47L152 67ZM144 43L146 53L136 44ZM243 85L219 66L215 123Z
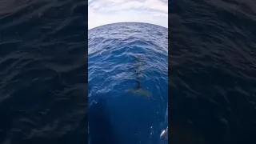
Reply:
M106 143L158 143L168 125L168 29L129 22L88 33L89 105L104 107L98 113L97 107L89 109L90 138L106 134ZM137 87L134 69L151 97L126 92ZM106 116L97 122L95 114ZM110 124L102 126L103 121Z

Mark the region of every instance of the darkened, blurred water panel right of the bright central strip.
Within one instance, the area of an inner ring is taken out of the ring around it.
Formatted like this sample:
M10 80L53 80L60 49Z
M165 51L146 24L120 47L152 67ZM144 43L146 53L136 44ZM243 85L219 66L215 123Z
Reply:
M169 9L170 142L256 143L256 3L174 0Z

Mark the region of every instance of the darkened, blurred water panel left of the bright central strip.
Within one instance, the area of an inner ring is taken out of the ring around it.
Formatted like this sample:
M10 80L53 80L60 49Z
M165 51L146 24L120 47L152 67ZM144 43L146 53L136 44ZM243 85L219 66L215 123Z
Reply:
M86 3L0 1L0 143L87 142Z

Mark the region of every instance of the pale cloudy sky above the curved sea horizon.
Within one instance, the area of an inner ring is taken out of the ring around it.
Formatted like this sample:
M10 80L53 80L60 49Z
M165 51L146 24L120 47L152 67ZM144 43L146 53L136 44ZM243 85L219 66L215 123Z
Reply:
M146 22L168 27L168 0L89 0L89 30L115 22Z

